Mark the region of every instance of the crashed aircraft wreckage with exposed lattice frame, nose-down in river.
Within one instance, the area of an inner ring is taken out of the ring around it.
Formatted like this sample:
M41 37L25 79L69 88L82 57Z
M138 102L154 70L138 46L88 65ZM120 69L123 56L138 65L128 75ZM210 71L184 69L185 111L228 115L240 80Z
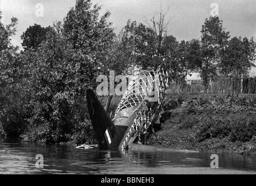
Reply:
M156 71L137 71L129 81L113 120L92 90L87 90L87 107L99 142L99 149L126 149L153 123L168 87L168 74L161 66ZM146 94L145 94L146 92Z

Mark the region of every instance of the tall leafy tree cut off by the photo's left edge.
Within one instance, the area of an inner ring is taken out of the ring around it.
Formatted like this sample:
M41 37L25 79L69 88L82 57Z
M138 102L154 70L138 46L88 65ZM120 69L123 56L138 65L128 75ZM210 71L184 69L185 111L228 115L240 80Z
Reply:
M17 53L17 47L10 43L10 37L16 32L17 19L3 26L0 12L0 125L7 135L22 134L23 91L21 88L23 65Z

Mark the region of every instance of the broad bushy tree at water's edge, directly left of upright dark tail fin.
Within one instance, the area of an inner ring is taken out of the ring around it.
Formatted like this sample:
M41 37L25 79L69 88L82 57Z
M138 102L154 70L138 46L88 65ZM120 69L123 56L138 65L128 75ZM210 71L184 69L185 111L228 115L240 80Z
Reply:
M90 59L82 58L66 38L53 29L36 51L26 55L27 60L33 62L27 62L26 66L30 71L26 88L32 93L29 139L65 142L72 140L79 125L86 125L90 130L84 100L94 76L89 71ZM85 67L83 74L80 66Z

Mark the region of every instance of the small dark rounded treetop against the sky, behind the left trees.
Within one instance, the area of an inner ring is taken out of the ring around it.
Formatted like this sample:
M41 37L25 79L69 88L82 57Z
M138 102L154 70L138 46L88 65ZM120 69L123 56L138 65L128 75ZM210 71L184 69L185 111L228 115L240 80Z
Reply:
M46 34L51 30L51 27L41 27L41 25L34 24L30 26L22 34L21 38L23 40L22 47L25 49L36 49L46 38Z

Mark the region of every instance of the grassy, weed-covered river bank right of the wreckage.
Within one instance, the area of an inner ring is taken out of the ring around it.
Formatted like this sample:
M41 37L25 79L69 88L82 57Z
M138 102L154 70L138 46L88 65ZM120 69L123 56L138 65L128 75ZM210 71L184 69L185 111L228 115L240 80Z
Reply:
M163 109L169 112L150 145L256 154L256 96L168 95Z

